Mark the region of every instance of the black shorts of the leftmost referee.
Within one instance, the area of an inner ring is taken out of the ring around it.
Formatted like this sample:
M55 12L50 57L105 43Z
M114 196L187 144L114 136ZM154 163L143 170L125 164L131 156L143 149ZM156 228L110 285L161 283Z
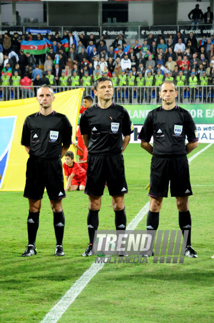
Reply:
M24 197L40 200L43 198L45 187L50 200L66 197L61 159L48 161L29 158Z

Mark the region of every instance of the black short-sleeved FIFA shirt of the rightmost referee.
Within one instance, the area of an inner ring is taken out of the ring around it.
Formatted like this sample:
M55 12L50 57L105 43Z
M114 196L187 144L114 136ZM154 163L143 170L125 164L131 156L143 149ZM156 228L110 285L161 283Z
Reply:
M138 138L149 142L152 136L153 155L159 157L186 155L186 136L189 142L198 140L190 113L177 105L171 110L161 106L148 113Z

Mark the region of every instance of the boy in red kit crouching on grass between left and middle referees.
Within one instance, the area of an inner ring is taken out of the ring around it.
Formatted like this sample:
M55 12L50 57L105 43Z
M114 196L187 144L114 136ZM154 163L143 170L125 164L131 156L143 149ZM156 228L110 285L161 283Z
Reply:
M84 191L86 185L86 170L74 161L72 151L67 151L65 154L63 168L67 180L65 191L76 191L78 187L80 191Z

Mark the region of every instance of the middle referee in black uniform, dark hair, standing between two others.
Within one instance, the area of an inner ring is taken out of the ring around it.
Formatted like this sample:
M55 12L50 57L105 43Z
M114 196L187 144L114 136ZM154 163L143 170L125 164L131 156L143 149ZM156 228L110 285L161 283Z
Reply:
M101 196L107 182L115 211L116 230L125 230L126 215L124 194L128 193L122 151L127 147L133 124L128 112L112 102L113 84L108 77L94 83L98 104L83 112L80 132L88 148L88 168L85 193L89 195L88 232L89 246L83 256L91 256ZM124 137L122 137L122 135ZM119 255L124 255L120 252Z

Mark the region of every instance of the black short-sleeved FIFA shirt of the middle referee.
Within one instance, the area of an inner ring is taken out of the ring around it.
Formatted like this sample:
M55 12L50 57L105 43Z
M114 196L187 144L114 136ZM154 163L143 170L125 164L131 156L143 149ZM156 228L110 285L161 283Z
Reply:
M122 135L133 133L133 124L121 105L112 103L107 109L101 109L95 104L83 112L80 132L89 136L89 154L112 155L121 153Z

